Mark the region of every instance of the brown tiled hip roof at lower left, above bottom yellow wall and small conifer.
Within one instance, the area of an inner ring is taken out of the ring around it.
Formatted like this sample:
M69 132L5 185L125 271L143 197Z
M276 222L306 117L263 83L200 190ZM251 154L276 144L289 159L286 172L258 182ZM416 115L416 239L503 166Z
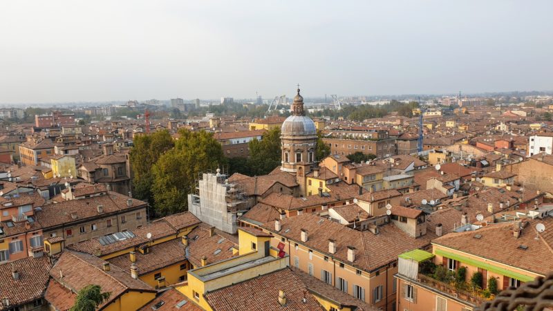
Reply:
M111 292L109 299L100 305L109 305L111 301L127 290L142 292L156 292L140 279L133 279L119 267L111 266L109 271L103 270L103 261L89 254L64 251L57 263L50 269L50 276L63 283L73 292L79 292L94 280L95 285L100 285L102 292ZM86 277L83 277L86 276Z

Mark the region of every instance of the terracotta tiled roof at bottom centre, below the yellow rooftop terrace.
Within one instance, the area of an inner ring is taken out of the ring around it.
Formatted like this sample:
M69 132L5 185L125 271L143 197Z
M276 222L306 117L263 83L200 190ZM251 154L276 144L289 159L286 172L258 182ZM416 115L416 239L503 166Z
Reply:
M286 295L284 306L279 304L280 290ZM208 292L205 299L214 310L324 310L315 297L304 294L306 290L301 279L284 268Z

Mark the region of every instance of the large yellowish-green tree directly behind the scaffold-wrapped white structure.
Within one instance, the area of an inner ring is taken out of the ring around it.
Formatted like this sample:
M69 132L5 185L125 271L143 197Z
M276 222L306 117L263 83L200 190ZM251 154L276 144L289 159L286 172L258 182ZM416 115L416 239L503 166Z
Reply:
M179 131L175 147L163 153L151 173L151 191L158 216L188 210L187 195L194 191L200 173L226 164L221 144L206 131Z

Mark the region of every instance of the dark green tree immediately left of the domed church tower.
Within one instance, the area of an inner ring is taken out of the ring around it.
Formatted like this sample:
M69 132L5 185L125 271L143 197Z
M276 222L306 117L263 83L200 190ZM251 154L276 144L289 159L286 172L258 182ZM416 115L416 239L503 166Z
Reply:
M275 127L263 134L261 140L251 140L247 165L255 176L265 175L281 164L281 129Z

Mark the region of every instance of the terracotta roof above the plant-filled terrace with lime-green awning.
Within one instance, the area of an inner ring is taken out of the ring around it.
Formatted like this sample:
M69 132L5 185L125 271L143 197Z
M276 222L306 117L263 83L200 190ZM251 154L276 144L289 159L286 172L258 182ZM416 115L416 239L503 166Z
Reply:
M513 234L514 223L497 223L476 231L452 232L433 243L545 275L553 270L553 218L547 216L527 223L518 238ZM545 232L539 235L535 229L537 223L545 225ZM476 234L480 238L474 238ZM521 245L527 249L519 248Z

